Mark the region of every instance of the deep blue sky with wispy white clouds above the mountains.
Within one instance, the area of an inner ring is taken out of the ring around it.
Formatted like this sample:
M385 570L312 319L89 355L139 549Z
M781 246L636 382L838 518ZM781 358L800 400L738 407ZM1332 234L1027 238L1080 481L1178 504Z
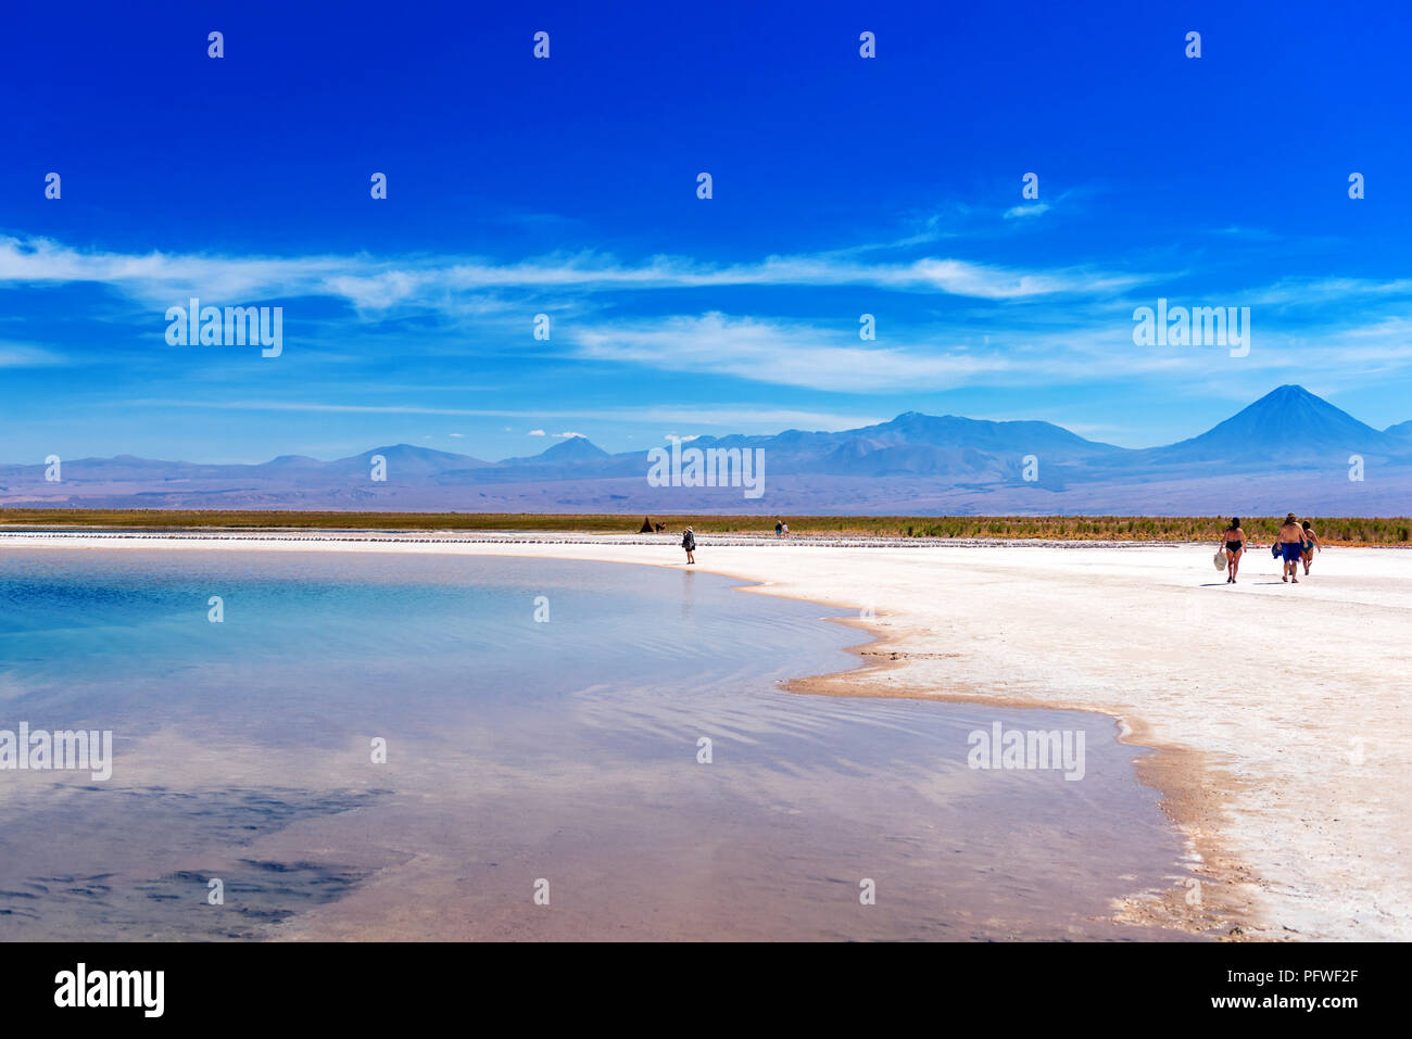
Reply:
M89 7L0 34L0 462L1412 419L1402 4ZM282 354L169 346L192 295ZM1250 356L1134 346L1159 296Z

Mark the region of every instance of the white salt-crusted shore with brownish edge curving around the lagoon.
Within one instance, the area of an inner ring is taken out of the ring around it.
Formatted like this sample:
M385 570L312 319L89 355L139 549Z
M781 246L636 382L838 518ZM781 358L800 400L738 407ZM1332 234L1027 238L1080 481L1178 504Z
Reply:
M3 548L456 552L681 566L623 539L0 534ZM1200 857L1173 888L1118 906L1138 923L1264 939L1406 939L1401 826L1412 737L1412 555L1332 549L1282 584L1252 552L1224 584L1209 546L713 545L699 567L746 590L858 610L863 669L798 692L1069 707L1117 716L1159 754L1144 778ZM361 542L361 543L350 543Z

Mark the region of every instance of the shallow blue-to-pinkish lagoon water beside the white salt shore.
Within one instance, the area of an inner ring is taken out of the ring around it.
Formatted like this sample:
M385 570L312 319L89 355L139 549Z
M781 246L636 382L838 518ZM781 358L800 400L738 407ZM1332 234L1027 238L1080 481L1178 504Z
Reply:
M1110 899L1182 847L1111 719L786 693L860 635L734 584L6 552L0 730L112 730L114 762L0 771L0 939L1152 936ZM997 721L1083 731L1084 778L969 768Z

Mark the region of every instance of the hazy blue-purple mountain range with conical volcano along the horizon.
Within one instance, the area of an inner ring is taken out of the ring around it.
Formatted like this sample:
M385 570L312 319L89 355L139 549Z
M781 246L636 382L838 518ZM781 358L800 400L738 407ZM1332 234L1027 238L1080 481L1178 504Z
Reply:
M839 432L702 436L689 449L758 449L764 493L651 486L644 450L583 438L486 462L411 445L332 462L260 464L119 455L0 464L0 507L304 508L460 512L1271 514L1412 511L1412 421L1374 429L1282 385L1200 436L1127 449L1049 422L905 412ZM384 480L374 479L381 459ZM1361 479L1354 479L1361 477Z

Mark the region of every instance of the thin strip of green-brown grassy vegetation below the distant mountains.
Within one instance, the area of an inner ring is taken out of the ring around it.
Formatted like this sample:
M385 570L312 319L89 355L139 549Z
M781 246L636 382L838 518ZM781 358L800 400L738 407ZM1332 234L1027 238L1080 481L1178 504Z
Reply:
M364 529L364 531L573 531L635 534L640 514L578 512L299 512L220 510L0 508L0 529ZM1327 545L1412 545L1409 517L1300 517ZM777 520L791 536L956 538L995 541L1202 542L1219 541L1228 517L1130 515L654 515L666 531L774 534ZM1269 543L1284 517L1245 517L1254 543Z

